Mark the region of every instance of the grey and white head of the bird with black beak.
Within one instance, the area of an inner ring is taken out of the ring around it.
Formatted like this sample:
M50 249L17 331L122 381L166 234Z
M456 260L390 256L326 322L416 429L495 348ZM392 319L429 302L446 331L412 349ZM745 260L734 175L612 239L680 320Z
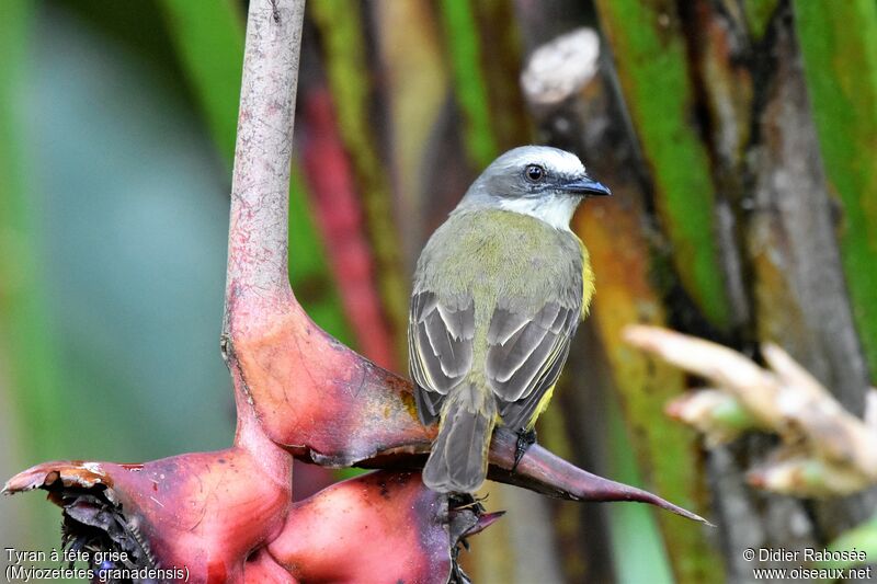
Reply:
M548 146L522 146L494 160L469 187L460 207L521 213L569 229L582 199L610 194L576 154Z

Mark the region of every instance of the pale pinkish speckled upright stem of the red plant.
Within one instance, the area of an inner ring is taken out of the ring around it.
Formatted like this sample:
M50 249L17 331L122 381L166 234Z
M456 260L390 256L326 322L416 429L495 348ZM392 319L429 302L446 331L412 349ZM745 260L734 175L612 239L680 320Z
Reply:
M289 165L305 0L252 0L231 182L223 352L235 381L235 443L287 481L292 459L265 435L234 351L294 301L287 272Z

